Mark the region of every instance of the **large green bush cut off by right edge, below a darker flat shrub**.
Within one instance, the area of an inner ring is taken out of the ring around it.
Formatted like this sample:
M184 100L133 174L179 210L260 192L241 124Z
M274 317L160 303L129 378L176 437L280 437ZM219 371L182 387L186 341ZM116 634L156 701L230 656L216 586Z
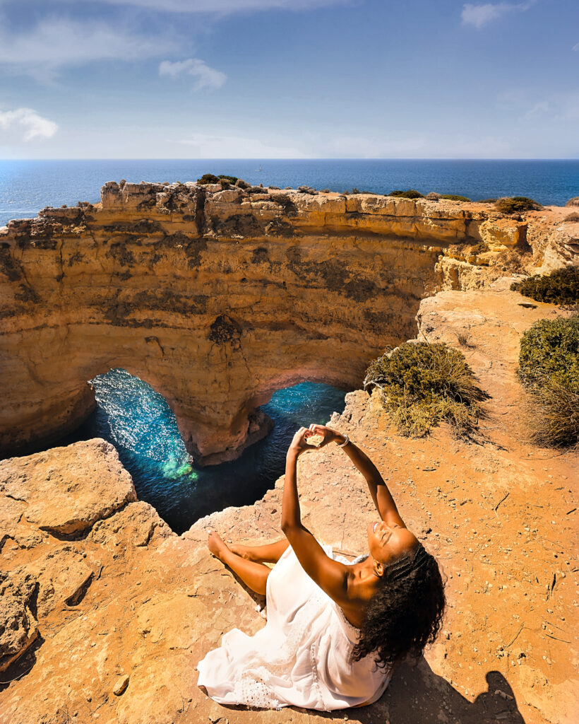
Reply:
M526 388L523 419L533 442L579 441L579 315L541 319L520 340L518 378Z

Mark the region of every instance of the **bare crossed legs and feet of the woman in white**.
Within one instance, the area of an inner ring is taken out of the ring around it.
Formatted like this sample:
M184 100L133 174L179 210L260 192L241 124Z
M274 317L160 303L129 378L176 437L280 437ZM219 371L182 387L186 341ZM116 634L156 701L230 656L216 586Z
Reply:
M209 531L207 547L222 563L231 568L252 591L265 596L267 576L271 568L264 563L278 563L288 547L286 538L260 546L231 545L220 539L215 531Z

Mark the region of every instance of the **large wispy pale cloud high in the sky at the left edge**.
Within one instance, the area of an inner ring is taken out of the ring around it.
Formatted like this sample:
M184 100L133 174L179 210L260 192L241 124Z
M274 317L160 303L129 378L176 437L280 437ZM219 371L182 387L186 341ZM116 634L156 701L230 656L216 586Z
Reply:
M145 38L103 22L48 19L26 33L2 33L0 64L12 72L52 80L65 66L102 60L138 60L166 54L171 43ZM174 47L173 47L174 50Z

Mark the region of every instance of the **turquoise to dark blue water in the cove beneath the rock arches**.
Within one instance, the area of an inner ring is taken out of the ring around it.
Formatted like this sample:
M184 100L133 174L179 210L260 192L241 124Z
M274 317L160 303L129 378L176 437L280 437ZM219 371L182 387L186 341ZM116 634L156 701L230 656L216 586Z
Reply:
M275 392L262 410L275 422L267 438L241 458L197 468L179 435L175 416L150 385L124 369L95 377L97 408L74 435L60 444L103 437L131 473L137 497L153 505L173 531L182 533L203 515L229 505L251 505L283 473L294 432L312 422L324 424L342 412L344 392L304 382Z

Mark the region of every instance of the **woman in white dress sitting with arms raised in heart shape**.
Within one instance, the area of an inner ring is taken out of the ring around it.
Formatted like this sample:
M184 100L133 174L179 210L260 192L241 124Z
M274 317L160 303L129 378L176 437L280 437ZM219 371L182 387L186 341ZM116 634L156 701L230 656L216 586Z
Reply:
M319 447L335 442L346 452L380 516L367 529L369 555L353 564L301 523L297 460L314 449L314 435ZM266 595L267 624L252 637L226 633L197 666L197 683L221 704L331 711L375 702L394 665L437 636L445 594L436 560L406 528L374 463L322 425L300 428L289 447L281 528L286 539L258 547L228 547L209 531L213 555Z

